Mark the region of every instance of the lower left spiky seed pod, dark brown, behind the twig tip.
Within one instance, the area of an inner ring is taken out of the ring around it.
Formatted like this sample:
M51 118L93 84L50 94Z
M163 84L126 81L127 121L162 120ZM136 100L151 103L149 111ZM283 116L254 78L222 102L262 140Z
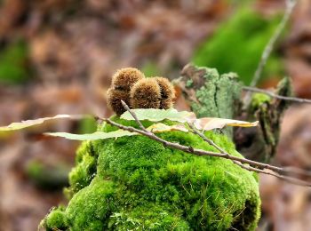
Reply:
M130 92L120 91L113 88L109 88L107 92L108 107L113 109L117 116L121 116L125 109L121 103L121 100L127 105L130 105Z

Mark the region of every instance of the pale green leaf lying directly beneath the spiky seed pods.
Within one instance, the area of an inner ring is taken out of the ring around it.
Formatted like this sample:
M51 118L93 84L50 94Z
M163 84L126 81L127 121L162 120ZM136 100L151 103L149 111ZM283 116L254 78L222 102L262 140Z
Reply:
M139 120L148 120L152 122L159 122L163 121L164 119L168 119L171 121L185 123L188 120L195 118L195 114L193 112L178 111L174 108L167 110L155 108L132 109L132 112L135 113ZM124 112L121 118L125 120L134 120L128 111Z

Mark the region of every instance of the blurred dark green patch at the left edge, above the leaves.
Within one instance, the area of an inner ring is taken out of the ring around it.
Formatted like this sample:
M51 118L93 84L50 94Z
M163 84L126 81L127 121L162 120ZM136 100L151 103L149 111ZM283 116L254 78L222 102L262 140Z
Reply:
M0 83L20 84L29 78L28 46L18 41L0 50Z

